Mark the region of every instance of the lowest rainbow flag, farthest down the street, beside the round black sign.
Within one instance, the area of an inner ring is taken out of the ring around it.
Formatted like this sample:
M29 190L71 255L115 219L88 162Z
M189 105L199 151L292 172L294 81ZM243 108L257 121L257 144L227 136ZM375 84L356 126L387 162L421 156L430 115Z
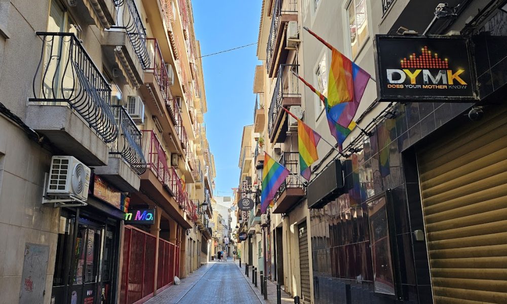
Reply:
M280 185L285 178L291 174L280 163L275 161L267 153L264 154L264 169L262 172L262 192L261 192L261 213L265 213L268 206L273 206L273 199Z

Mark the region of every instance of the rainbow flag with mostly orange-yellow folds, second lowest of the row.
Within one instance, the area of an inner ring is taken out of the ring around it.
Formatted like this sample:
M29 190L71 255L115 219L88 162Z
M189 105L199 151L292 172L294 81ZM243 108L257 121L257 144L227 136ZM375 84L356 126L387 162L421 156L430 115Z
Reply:
M312 174L311 164L318 160L317 144L319 140L320 135L298 119L299 167L301 176L306 180L310 180Z

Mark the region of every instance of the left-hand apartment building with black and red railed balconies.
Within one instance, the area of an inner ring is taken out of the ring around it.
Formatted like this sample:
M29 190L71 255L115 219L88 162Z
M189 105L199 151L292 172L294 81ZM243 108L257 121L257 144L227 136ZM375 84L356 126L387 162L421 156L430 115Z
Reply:
M146 301L211 239L192 4L0 8L3 301Z

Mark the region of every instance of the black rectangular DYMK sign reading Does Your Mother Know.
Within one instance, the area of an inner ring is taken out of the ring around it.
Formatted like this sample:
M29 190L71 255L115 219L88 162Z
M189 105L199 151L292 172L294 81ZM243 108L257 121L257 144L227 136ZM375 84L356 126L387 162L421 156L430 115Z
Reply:
M478 99L467 38L376 35L375 41L379 101Z

